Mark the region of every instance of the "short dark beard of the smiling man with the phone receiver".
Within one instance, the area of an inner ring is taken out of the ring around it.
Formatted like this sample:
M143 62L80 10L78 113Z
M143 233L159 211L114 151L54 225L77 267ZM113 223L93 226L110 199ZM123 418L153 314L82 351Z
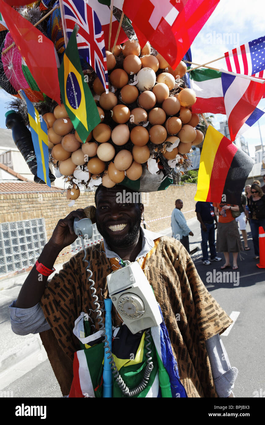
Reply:
M100 232L100 235L103 236L109 247L119 246L119 248L128 248L128 246L133 245L137 241L141 225L141 211L139 210L137 212L137 220L134 224L129 226L128 232L123 236L109 235L102 224L98 223L98 221L96 221L96 224L97 230Z

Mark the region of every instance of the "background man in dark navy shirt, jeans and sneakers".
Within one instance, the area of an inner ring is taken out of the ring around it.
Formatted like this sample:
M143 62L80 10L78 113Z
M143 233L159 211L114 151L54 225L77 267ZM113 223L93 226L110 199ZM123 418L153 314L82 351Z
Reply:
M202 262L206 266L211 264L208 260L208 242L212 261L221 261L222 258L217 257L215 249L215 234L214 229L217 227L217 217L214 215L214 206L211 202L198 201L195 205L197 219L201 224L202 232ZM214 227L214 220L216 226Z

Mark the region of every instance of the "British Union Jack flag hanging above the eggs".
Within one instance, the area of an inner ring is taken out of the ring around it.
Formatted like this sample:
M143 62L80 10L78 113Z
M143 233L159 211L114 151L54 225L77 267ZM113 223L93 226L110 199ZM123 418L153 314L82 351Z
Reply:
M63 0L63 7L68 38L77 24L80 27L77 34L79 54L94 68L108 93L104 34L96 12L84 0Z

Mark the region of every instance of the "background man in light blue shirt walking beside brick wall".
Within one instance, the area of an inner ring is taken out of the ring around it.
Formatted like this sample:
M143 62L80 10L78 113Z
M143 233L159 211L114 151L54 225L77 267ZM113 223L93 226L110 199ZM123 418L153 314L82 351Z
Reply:
M188 253L190 253L188 235L193 236L193 233L188 227L184 215L180 211L183 207L182 200L177 199L177 201L175 202L175 206L176 208L174 208L171 215L172 238L178 239L182 243L182 245L185 246Z

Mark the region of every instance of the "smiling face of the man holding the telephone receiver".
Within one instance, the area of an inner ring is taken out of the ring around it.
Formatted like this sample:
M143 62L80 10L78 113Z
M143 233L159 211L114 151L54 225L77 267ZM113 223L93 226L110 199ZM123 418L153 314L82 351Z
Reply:
M143 205L117 202L117 190L97 194L97 229L109 246L127 248L139 238Z

